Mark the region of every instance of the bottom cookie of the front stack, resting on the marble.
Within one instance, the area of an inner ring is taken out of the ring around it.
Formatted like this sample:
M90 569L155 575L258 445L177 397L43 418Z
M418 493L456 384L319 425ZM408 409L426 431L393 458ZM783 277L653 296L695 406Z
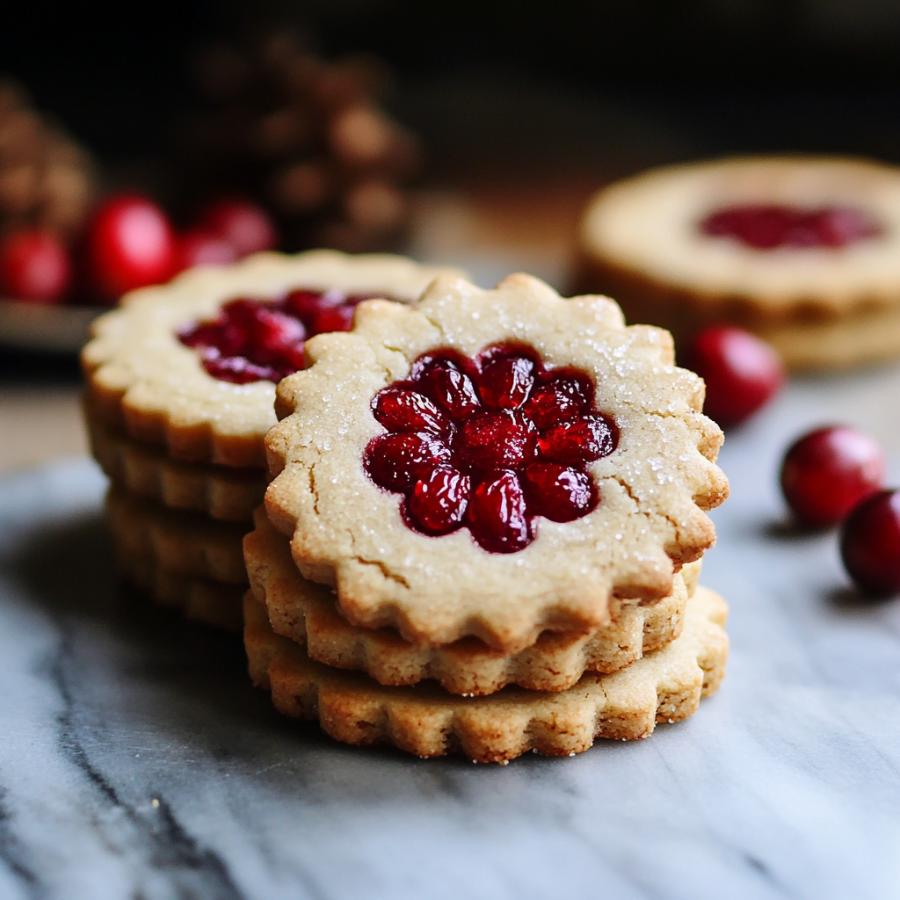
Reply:
M463 698L422 685L381 687L310 661L301 647L274 634L249 593L244 645L250 677L271 691L276 709L317 720L338 741L393 744L420 757L461 753L475 762L506 762L529 750L581 753L598 738L645 738L657 722L691 716L724 676L726 615L724 600L701 587L679 638L621 672L585 675L561 693L508 688Z

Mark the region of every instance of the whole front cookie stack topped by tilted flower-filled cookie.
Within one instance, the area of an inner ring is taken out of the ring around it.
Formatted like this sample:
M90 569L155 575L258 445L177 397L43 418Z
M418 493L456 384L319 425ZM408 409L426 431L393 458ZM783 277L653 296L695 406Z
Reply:
M634 739L724 673L697 585L722 435L604 297L445 277L278 386L244 551L253 681L338 740L505 762Z

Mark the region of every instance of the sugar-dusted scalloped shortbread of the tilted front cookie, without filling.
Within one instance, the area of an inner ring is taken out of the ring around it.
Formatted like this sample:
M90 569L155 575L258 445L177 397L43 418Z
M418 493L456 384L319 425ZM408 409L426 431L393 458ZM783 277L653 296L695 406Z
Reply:
M361 464L383 431L371 412L380 389L426 351L474 357L497 342L588 373L618 428L615 451L589 466L596 509L541 519L537 539L509 554L487 553L464 530L414 533ZM608 625L614 598L668 596L678 569L714 541L705 510L728 483L715 465L722 433L701 412L703 382L674 365L667 332L626 328L606 297L564 299L527 275L491 291L443 277L414 307L361 304L352 332L313 338L307 355L309 367L278 387L266 510L303 577L333 587L354 625L431 646L471 636L514 653L548 629Z

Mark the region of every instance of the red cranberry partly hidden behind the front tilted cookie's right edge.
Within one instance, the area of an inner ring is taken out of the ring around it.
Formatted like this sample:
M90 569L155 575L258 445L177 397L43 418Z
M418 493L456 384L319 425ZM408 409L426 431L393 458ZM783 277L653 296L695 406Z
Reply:
M723 428L739 425L778 393L784 367L765 342L728 325L694 337L686 364L706 382L707 415Z

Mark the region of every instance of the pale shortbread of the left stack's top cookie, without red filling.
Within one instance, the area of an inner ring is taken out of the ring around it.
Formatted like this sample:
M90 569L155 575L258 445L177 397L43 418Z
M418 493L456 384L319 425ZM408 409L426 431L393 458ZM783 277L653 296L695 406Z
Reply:
M446 269L399 256L317 250L261 253L233 266L197 268L167 285L127 295L101 316L82 352L92 413L108 426L188 462L262 467L262 440L275 423L275 386L232 384L203 368L178 339L240 296L266 299L294 288L340 289L412 301Z

